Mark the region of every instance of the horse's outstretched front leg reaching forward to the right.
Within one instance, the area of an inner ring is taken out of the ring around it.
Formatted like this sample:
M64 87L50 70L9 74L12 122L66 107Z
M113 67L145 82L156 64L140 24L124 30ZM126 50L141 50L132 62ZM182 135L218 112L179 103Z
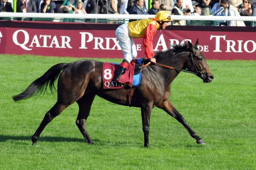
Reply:
M191 137L196 139L196 143L198 144L205 144L204 140L201 139L193 130L192 128L188 125L184 117L175 109L175 107L172 105L172 103L169 100L166 100L162 102L161 106L158 106L159 108L163 109L166 111L169 115L174 117L176 120L178 120L188 131Z

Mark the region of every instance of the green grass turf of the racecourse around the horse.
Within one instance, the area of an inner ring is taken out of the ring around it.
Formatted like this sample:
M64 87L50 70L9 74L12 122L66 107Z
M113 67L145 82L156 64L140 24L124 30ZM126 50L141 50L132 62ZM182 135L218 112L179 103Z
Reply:
M207 145L197 145L163 110L151 116L150 147L144 148L140 109L96 97L88 145L75 121L77 104L31 137L56 102L56 92L14 102L33 80L68 57L0 56L0 169L255 169L256 61L208 61L210 84L188 73L172 83L171 101ZM96 59L100 61L115 61Z

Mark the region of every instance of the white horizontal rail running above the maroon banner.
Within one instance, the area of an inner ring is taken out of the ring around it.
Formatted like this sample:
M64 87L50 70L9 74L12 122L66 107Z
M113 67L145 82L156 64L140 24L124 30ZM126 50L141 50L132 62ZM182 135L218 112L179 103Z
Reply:
M83 19L145 19L154 18L154 15L115 15L115 14L49 14L49 13L14 13L0 12L0 17L13 18L83 18ZM256 16L171 16L172 20L199 20L199 21L256 21Z

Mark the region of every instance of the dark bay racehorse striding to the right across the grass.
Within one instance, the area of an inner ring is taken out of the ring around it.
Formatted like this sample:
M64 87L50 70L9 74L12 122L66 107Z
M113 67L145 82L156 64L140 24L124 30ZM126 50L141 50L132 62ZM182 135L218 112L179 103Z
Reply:
M172 66L175 69L150 64L142 68L140 86L131 89L131 106L140 107L142 115L142 129L144 132L144 147L149 147L150 115L152 108L158 107L178 120L196 139L196 143L205 144L204 141L186 123L182 115L170 102L171 82L181 70L193 72L203 82L211 82L214 76L201 51L190 42L183 45L174 45L173 49L156 54L156 63ZM80 60L74 63L60 63L52 66L44 75L32 82L21 94L13 96L14 101L30 98L36 92L43 92L47 86L54 88L54 81L58 78L58 99L56 104L45 114L42 123L32 136L32 144L36 145L38 137L52 119L59 115L68 106L77 102L79 106L76 125L87 143L93 144L86 131L86 120L94 97L100 96L115 104L128 106L127 90L103 89L102 84L103 63L93 60Z

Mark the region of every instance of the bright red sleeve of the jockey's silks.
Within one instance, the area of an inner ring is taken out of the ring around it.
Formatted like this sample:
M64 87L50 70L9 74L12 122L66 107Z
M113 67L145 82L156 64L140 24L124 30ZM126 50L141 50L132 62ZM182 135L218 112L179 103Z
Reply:
M152 59L152 57L155 55L153 51L153 35L155 34L157 28L154 24L148 24L148 27L146 28L144 37L143 37L143 47L145 49L145 55L148 59Z

